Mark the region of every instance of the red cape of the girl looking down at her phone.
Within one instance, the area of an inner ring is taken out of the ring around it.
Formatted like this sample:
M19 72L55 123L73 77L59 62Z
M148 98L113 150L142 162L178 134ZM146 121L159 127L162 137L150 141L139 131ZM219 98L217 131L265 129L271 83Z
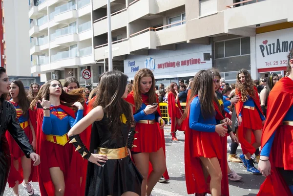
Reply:
M148 103L148 96L142 94L142 99L143 99L143 103ZM125 99L128 103L132 104L132 109L133 109L133 112L135 112L135 103L134 103L134 97L133 97L133 91L131 91L127 98ZM159 103L159 99L157 97L157 103ZM160 107L158 107L157 109L157 112L159 113L160 116L162 116L161 114L161 110L160 110ZM157 123L158 124L158 123ZM158 124L159 126L159 124ZM160 127L160 126L159 126ZM163 151L164 151L164 155L165 155L165 160L166 160L166 142L165 142L165 135L164 135L164 129L159 129L160 130L160 133L161 133L161 137L162 137L162 144L163 144ZM149 168L148 168L148 174L150 174L152 172L153 168L152 168L152 165L151 163L149 162ZM167 171L167 168L166 168L166 171L165 173L163 174L163 176L165 177L165 179L170 179L169 177L169 174L168 174L168 171Z

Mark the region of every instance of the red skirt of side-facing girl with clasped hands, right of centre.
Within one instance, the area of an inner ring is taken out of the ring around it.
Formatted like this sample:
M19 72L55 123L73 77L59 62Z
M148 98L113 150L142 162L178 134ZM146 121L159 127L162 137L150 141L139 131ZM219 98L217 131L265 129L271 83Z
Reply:
M192 157L217 157L222 159L221 138L216 132L194 131L193 139L194 146L192 148Z

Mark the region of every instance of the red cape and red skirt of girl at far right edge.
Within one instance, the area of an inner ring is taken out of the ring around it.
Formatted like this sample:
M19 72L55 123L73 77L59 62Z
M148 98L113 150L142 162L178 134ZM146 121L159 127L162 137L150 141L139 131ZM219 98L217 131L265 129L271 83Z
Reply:
M293 127L283 125L288 110L293 107L293 81L284 77L275 84L268 98L267 120L261 138L263 147L275 132L270 153L271 175L260 186L257 196L293 196L276 167L293 170Z

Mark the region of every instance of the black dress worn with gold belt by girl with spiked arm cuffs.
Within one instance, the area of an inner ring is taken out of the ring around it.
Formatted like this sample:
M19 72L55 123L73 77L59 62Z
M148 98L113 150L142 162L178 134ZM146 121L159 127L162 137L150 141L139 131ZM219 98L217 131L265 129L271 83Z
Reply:
M121 131L114 135L107 128L108 120L92 124L90 152L96 149L119 149L126 146L130 127L123 124ZM142 175L129 155L121 159L108 159L102 167L88 162L85 196L121 196L125 192L141 195Z

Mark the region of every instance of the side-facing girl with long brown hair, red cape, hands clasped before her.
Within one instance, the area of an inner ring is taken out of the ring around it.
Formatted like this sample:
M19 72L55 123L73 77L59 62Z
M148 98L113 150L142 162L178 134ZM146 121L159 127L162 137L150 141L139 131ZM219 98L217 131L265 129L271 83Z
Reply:
M188 194L229 196L227 163L223 164L221 137L231 124L224 119L214 96L214 76L208 70L199 71L193 79L185 119L185 174ZM188 91L188 92L189 92ZM217 125L216 120L222 124ZM226 171L224 173L223 171ZM224 174L224 175L222 175ZM223 176L223 177L222 177Z

